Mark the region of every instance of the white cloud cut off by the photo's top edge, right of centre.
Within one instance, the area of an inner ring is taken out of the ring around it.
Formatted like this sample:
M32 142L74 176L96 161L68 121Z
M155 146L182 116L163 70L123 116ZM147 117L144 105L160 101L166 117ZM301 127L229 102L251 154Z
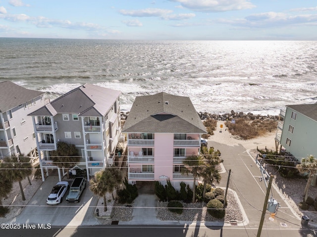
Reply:
M221 12L254 8L249 0L170 0L200 12Z

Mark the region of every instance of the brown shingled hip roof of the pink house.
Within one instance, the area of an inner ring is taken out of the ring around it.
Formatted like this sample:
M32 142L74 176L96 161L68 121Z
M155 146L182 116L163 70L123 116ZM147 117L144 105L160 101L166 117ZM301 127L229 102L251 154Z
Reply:
M138 96L122 132L207 133L189 97L161 92Z

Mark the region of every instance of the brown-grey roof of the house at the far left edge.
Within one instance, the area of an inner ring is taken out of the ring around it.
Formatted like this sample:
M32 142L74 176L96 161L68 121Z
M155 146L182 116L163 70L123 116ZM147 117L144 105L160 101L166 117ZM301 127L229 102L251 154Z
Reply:
M9 80L0 82L0 113L26 103L45 92L26 89Z

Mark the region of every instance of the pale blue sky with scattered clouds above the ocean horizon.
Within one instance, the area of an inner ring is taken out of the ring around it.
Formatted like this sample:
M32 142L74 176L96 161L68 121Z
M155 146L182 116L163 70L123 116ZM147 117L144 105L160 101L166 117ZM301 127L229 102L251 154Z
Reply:
M317 40L317 1L0 0L0 37Z

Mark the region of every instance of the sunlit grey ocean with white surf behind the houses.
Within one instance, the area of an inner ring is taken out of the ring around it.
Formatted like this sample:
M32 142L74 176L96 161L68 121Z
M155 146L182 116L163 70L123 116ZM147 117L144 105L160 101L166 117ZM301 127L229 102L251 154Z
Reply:
M138 41L0 38L0 81L51 99L92 83L122 91L121 110L161 91L197 111L276 115L317 102L317 41Z

